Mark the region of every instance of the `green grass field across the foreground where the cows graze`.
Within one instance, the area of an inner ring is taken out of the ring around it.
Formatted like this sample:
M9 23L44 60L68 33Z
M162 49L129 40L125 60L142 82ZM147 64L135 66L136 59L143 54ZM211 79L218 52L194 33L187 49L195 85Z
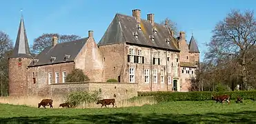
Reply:
M100 107L100 105L99 105ZM95 109L43 109L0 104L1 123L256 123L256 102L221 105L215 101L179 101Z

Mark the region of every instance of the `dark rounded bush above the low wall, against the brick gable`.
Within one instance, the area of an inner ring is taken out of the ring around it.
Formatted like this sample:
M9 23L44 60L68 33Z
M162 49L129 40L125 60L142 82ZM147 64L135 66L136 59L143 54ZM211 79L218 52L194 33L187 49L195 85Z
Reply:
M70 74L66 76L66 82L83 82L83 81L90 81L88 76L83 74L83 70L75 69L72 70Z

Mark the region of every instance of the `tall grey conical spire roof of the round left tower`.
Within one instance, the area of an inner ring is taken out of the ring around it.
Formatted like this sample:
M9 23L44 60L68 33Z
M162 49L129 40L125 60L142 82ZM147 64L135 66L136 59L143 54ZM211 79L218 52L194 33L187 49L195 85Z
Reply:
M23 16L21 15L21 21L19 23L19 30L17 34L16 43L12 50L10 58L33 58L30 54L30 48L28 45L28 38L25 30Z

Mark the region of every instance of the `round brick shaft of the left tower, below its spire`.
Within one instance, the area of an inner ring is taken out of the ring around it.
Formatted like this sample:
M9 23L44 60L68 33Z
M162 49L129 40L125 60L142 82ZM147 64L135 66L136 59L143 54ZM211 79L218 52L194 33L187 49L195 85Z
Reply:
M18 58L9 59L9 95L10 96L27 96L27 66L32 59L21 59L21 67L19 67Z

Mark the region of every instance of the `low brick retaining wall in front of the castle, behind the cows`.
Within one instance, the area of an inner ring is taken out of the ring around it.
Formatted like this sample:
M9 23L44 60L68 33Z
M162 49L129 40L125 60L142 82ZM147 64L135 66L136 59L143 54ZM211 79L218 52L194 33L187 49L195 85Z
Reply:
M70 92L78 90L101 91L101 99L115 98L129 99L137 96L137 83L101 83L101 82L83 82L83 83L58 83L50 85L51 97L63 97ZM114 94L116 97L114 97Z

